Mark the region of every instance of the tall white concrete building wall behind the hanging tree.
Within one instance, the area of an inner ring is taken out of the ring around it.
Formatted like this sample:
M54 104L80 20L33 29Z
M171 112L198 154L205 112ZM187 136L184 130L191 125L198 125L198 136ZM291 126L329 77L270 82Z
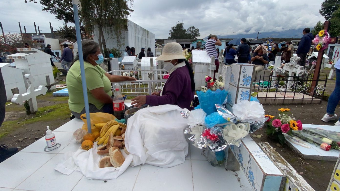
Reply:
M156 55L155 51L155 34L152 32L140 27L136 23L128 20L128 28L127 30L121 31L120 43L117 42L116 33L113 32L113 27L106 27L103 29L104 37L106 40L106 48L119 48L122 52L122 55L125 52L125 47L129 46L134 47L136 49L136 54L138 54L141 48L145 48L145 54L147 52L147 48L151 48L151 51L154 55ZM98 28L94 29L94 41L98 42L99 31Z

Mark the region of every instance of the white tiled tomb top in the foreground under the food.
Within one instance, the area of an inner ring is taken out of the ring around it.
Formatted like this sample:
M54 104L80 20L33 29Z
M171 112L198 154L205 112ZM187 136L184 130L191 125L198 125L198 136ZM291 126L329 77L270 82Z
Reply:
M184 163L160 168L151 165L129 167L113 180L90 180L81 172L74 171L64 175L53 169L63 160L63 154L76 151L79 144L71 141L73 131L83 122L73 119L54 131L61 147L55 151L44 152L45 140L39 139L19 153L0 163L0 191L10 190L251 190L251 185L241 171L226 171L224 167L212 167L201 155L201 149L188 143L189 153ZM188 137L188 135L186 135ZM250 137L246 137L250 138Z

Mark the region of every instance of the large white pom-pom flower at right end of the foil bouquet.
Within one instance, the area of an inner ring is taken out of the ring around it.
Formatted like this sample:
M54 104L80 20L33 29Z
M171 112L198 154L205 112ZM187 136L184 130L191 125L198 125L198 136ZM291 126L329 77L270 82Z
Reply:
M242 100L233 106L233 113L240 118L242 122L255 123L262 121L265 117L263 106L256 101Z

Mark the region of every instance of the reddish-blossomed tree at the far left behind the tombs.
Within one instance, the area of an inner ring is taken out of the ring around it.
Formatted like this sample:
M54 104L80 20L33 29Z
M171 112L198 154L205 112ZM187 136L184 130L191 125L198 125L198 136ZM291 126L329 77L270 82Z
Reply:
M23 48L25 43L28 43L31 47L33 45L32 38L28 35L23 34L23 39L21 34L11 34L8 33L5 35L6 44L4 41L4 37L0 36L0 51L2 52L10 52L16 53L17 48Z

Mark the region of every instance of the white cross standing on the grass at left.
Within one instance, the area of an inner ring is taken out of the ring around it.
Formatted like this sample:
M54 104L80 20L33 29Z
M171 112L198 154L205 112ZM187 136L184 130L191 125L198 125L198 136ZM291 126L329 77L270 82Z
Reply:
M25 74L25 78L27 80L28 88L27 93L24 94L14 94L12 98L12 103L16 103L22 105L25 100L28 100L30 104L31 113L34 113L38 110L37 99L35 98L37 95L43 94L45 95L47 92L47 88L45 86L39 86L38 89L34 89L34 77L30 74Z

